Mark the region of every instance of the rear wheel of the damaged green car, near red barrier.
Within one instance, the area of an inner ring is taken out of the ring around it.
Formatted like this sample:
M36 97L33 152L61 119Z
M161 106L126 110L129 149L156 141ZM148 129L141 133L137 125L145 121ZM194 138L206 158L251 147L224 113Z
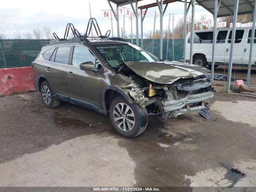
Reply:
M54 99L52 90L47 81L42 82L40 90L43 103L46 107L54 108L60 105L60 100Z

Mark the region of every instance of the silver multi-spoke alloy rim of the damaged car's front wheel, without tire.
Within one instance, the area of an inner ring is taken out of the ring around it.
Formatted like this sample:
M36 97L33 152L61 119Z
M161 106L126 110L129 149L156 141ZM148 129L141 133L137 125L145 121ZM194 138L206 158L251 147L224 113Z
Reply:
M125 103L118 103L114 107L113 117L116 125L123 131L130 131L135 124L135 116L132 108Z

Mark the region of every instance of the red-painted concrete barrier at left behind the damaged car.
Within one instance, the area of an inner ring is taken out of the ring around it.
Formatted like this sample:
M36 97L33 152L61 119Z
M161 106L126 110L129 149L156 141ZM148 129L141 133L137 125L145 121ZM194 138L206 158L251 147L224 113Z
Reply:
M0 96L35 90L32 67L0 69Z

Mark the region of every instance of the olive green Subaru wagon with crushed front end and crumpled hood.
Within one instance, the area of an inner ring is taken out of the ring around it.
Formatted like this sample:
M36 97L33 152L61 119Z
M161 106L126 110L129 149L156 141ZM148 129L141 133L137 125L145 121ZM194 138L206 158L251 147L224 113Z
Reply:
M114 129L136 137L148 114L166 120L208 108L210 70L162 60L121 38L52 40L32 62L34 86L48 108L68 101L109 114Z

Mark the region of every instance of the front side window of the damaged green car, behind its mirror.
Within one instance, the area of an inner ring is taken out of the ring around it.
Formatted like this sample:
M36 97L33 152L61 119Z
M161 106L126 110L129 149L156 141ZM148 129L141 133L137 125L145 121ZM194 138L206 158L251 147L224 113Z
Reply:
M79 66L81 63L91 61L96 64L96 57L92 54L92 52L85 46L75 46L73 57L72 57L72 65Z

